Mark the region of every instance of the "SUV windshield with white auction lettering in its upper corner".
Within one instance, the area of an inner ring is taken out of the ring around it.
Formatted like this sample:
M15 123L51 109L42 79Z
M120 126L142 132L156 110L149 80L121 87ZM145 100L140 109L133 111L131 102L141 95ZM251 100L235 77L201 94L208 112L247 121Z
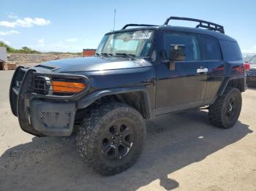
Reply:
M147 57L151 50L153 31L127 31L107 34L99 43L99 55L132 55Z

